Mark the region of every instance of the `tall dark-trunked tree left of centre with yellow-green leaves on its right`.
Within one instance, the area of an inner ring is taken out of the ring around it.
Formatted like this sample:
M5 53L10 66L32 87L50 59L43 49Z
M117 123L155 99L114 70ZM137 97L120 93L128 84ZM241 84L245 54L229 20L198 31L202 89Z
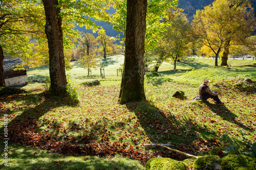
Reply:
M51 93L53 95L67 94L67 78L65 75L65 59L63 55L62 18L67 22L76 21L80 26L98 29L89 17L96 20L108 16L105 9L109 7L105 1L50 1L42 0L46 14L45 32L49 48L49 70L51 79ZM60 10L61 9L61 10ZM105 14L105 15L104 15Z

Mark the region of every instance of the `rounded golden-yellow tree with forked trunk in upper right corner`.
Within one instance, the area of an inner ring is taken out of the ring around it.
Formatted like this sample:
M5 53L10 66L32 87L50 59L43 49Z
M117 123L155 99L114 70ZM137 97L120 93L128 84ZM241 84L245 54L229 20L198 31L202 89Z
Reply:
M193 20L195 37L215 54L215 65L222 48L237 44L254 31L254 11L247 1L234 8L234 1L216 0L212 5L198 10Z

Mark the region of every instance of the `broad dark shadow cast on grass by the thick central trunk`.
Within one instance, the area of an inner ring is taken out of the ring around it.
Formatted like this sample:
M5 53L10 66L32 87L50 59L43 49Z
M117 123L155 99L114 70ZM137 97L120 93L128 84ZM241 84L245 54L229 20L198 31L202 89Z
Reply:
M160 110L149 102L133 102L126 104L127 109L136 113L139 123L150 141L149 143L168 143L170 148L188 154L197 155L214 147L220 147L216 140L216 132L209 131L186 117L177 119L172 113ZM208 141L199 137L204 136ZM201 143L200 148L198 143ZM163 157L184 160L188 157L174 152L162 153Z

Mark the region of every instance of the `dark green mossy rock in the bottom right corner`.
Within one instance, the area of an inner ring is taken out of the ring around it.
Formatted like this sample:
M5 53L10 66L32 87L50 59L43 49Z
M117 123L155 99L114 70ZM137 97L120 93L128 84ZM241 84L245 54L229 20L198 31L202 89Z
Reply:
M221 159L222 170L252 170L256 169L256 158L244 155L227 155Z

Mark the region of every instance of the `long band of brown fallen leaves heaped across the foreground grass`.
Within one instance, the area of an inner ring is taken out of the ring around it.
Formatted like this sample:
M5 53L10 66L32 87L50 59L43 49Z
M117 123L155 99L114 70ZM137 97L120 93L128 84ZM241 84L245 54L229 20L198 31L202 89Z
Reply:
M60 152L68 155L95 155L110 157L120 154L131 159L140 160L146 163L148 159L154 157L174 157L176 153L164 151L146 152L143 149L136 149L130 143L114 141L112 143L93 140L93 136L80 136L77 141L74 136L67 135L66 140L51 136L49 133L36 132L39 123L37 120L26 117L25 120L14 119L9 126L11 141L19 145L28 145L39 149L50 150L50 152ZM83 143L83 144L81 144ZM184 159L184 157L183 157Z

